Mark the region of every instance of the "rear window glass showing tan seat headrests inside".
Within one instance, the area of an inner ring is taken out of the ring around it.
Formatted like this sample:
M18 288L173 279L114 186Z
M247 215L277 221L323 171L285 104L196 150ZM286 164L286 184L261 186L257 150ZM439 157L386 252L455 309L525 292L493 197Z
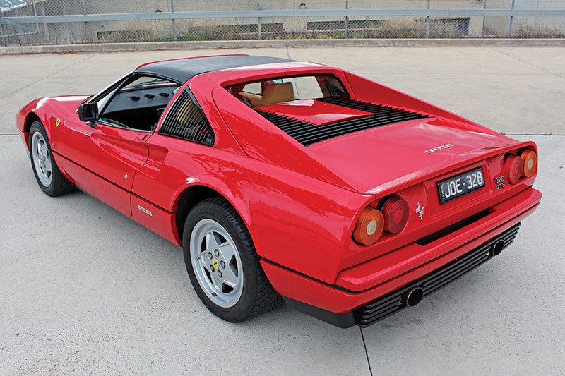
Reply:
M299 75L269 78L227 87L227 90L249 107L337 97L349 99L340 80L334 75Z

